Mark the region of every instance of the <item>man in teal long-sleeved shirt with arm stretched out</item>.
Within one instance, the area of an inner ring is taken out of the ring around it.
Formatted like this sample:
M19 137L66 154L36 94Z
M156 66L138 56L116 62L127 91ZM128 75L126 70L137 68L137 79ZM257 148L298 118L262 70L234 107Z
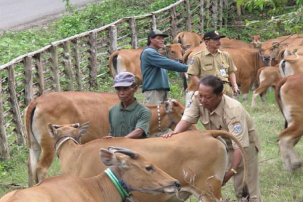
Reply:
M165 58L158 50L164 48L164 38L168 37L160 30L149 32L147 47L141 53L143 102L147 105L162 104L168 99L169 80L167 70L186 72L187 65Z

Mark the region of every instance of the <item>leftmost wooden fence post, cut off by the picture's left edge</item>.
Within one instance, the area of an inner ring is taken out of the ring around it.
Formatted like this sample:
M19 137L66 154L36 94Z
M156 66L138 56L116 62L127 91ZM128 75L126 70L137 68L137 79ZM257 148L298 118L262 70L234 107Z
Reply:
M4 126L4 110L3 110L3 93L2 93L2 76L0 72L0 157L10 158L9 144Z

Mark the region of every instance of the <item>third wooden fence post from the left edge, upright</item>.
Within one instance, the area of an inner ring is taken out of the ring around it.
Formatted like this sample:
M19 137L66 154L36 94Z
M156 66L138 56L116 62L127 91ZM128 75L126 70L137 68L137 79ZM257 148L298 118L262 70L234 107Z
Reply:
M31 56L24 58L24 103L27 106L33 98L33 60Z

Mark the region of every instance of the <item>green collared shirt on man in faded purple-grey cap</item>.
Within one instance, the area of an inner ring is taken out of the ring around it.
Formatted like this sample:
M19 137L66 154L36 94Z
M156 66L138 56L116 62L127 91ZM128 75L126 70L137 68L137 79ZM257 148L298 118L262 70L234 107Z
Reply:
M141 128L144 133L142 137L149 137L150 110L144 105L138 103L135 98L126 109L122 103L115 105L110 109L110 136L124 137L137 128Z

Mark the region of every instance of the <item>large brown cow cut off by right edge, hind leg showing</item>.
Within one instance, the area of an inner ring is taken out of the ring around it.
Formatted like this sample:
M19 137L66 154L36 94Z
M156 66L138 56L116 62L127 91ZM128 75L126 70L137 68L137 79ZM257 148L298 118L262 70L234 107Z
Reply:
M302 66L302 64L301 64ZM302 162L294 146L303 134L303 74L287 76L277 86L275 97L286 124L278 134L282 162L286 170L299 168ZM298 96L299 95L299 96Z

